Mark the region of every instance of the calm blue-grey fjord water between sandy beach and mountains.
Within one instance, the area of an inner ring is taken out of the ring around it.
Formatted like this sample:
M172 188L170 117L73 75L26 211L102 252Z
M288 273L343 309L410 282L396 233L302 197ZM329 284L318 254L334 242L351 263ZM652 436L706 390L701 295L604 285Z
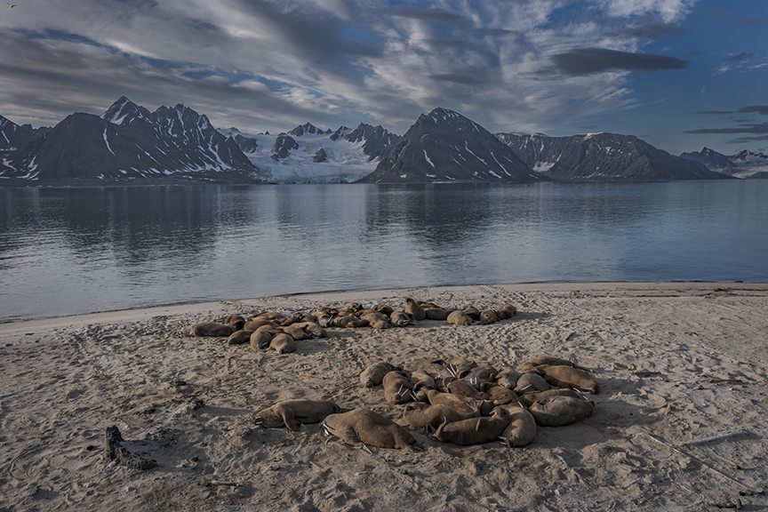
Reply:
M0 189L0 321L437 284L768 281L768 181Z

